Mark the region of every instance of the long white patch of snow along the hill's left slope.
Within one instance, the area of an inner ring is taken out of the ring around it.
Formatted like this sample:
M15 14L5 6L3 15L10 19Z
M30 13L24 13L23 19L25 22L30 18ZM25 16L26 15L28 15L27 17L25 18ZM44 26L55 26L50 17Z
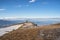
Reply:
M19 27L21 27L21 25L13 25L13 26L9 26L6 28L0 28L0 36L4 35L5 33L8 33L8 31L12 31L12 30L16 30Z

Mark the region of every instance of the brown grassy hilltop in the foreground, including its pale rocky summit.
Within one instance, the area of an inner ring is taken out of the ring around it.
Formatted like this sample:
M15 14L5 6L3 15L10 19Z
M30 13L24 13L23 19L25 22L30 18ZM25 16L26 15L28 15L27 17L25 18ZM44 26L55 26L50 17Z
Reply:
M27 22L0 37L0 40L60 40L60 24L37 26Z

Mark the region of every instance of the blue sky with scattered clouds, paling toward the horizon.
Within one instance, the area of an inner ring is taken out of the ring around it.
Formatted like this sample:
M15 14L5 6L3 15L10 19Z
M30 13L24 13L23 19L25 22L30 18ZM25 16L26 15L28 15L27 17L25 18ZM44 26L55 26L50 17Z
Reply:
M0 0L0 18L60 18L60 0Z

